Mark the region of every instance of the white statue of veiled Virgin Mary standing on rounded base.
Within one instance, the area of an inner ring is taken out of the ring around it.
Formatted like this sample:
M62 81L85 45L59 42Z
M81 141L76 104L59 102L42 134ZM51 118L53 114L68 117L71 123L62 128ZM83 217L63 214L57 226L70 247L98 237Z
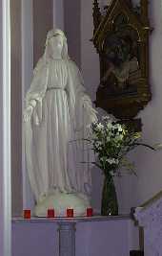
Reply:
M26 95L25 147L35 214L46 216L54 208L64 216L67 208L84 215L90 206L91 172L87 138L96 111L81 74L68 56L67 38L60 30L47 35Z

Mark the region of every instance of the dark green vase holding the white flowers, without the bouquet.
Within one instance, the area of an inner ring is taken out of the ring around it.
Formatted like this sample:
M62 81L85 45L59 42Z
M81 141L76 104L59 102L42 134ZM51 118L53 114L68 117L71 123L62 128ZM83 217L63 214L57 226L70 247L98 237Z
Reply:
M101 215L118 215L118 203L112 176L108 173L104 178L102 190Z

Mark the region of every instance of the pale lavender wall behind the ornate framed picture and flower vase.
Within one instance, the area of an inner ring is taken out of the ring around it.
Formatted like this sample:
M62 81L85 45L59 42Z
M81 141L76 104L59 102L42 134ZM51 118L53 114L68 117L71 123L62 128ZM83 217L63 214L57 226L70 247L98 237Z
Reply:
M92 35L92 0L81 1L81 67L85 85L95 100L95 91L99 83L99 60L90 42ZM105 4L105 1L102 1ZM135 0L135 2L139 2ZM135 3L134 2L134 3ZM152 86L152 102L141 111L143 122L143 140L151 145L162 142L162 6L160 1L150 1L150 19L154 31L150 43L150 81ZM104 112L98 109L100 114ZM162 151L153 152L138 148L130 155L135 163L137 177L124 175L115 180L121 213L130 212L136 206L162 189ZM97 169L92 170L93 204L100 208L102 176Z

